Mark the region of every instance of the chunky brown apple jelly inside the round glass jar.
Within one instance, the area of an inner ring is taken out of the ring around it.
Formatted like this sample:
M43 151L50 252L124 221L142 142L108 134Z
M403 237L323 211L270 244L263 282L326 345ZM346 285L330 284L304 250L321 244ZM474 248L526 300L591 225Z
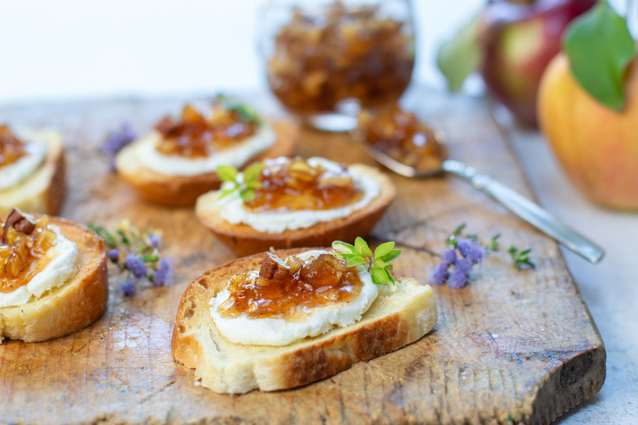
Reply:
M276 35L267 76L281 103L309 113L352 97L366 107L395 101L413 66L410 22L383 15L378 5L336 1L321 13L295 10Z

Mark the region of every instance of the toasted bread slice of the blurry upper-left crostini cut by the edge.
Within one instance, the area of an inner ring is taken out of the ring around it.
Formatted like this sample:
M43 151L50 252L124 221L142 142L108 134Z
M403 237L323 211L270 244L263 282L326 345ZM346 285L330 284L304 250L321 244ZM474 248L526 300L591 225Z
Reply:
M23 211L55 214L62 203L66 179L62 138L54 131L40 130L38 134L47 142L47 156L33 175L0 191L0 213L16 206Z

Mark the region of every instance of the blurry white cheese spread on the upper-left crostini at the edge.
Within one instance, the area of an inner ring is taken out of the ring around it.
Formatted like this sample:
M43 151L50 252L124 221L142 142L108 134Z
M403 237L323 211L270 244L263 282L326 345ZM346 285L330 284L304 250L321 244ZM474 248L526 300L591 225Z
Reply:
M47 141L35 131L17 129L15 136L24 143L27 155L13 164L0 167L0 191L20 184L33 174L47 156Z

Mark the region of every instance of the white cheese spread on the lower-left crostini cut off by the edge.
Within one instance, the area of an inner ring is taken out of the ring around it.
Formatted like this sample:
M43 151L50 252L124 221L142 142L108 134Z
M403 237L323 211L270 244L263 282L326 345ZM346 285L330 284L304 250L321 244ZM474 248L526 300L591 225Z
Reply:
M50 263L28 284L8 294L0 292L0 308L26 304L33 296L40 298L45 292L62 286L77 274L76 261L79 256L77 245L68 240L59 227L49 224L47 229L57 234L56 245L47 251L47 257L52 258Z

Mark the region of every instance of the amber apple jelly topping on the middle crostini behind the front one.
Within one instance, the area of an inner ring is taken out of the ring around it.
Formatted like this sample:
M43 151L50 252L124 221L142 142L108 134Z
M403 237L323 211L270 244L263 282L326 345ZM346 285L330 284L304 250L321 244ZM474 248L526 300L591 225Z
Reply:
M258 176L262 187L246 202L253 212L327 210L351 205L364 196L345 166L327 170L300 158L266 160L263 164Z

